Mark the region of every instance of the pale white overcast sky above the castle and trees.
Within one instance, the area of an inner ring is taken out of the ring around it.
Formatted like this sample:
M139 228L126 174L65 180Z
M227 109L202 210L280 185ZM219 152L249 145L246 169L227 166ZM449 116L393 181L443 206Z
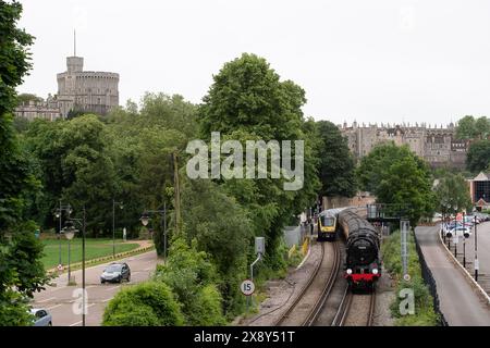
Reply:
M47 97L73 54L145 91L199 102L224 62L266 58L334 123L449 123L490 116L490 1L22 0L36 37L21 92Z

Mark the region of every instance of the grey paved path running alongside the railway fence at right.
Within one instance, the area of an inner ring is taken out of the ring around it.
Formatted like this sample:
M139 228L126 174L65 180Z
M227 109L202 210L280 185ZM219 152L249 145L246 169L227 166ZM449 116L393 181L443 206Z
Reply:
M450 259L439 239L440 226L420 226L415 228L415 233L427 265L436 279L440 309L448 324L489 326L490 309L477 289L470 285L463 270ZM480 239L478 246L479 241Z

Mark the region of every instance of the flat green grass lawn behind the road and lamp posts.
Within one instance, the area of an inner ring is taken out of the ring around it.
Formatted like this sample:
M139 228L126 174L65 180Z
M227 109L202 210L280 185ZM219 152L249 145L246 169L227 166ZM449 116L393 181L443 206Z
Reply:
M122 244L122 239L115 239L115 253L130 251L136 249L139 245L137 243ZM42 257L42 264L45 269L52 269L58 265L60 256L60 243L58 239L44 239L45 256ZM61 239L61 262L68 265L68 240ZM74 238L71 240L70 263L82 262L82 239ZM97 238L85 239L85 260L97 259L100 257L112 254L112 239Z

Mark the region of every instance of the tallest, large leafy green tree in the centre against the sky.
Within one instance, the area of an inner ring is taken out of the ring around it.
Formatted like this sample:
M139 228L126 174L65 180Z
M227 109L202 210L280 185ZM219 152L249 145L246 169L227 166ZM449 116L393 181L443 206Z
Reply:
M281 82L267 61L255 54L225 63L215 75L209 92L199 107L201 137L220 132L223 139L306 140L305 181L297 191L285 191L283 179L229 179L226 191L250 212L255 235L265 235L266 262L272 269L285 265L279 253L282 228L315 200L319 182L311 144L303 133L304 90L291 80Z

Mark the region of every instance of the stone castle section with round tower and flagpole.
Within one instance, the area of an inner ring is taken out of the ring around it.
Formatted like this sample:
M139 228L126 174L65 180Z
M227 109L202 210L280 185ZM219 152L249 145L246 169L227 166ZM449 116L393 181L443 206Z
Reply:
M45 102L21 104L15 115L53 121L65 119L71 111L103 115L119 105L119 74L84 71L84 59L76 53L66 58L66 71L57 77L57 95L49 96Z

